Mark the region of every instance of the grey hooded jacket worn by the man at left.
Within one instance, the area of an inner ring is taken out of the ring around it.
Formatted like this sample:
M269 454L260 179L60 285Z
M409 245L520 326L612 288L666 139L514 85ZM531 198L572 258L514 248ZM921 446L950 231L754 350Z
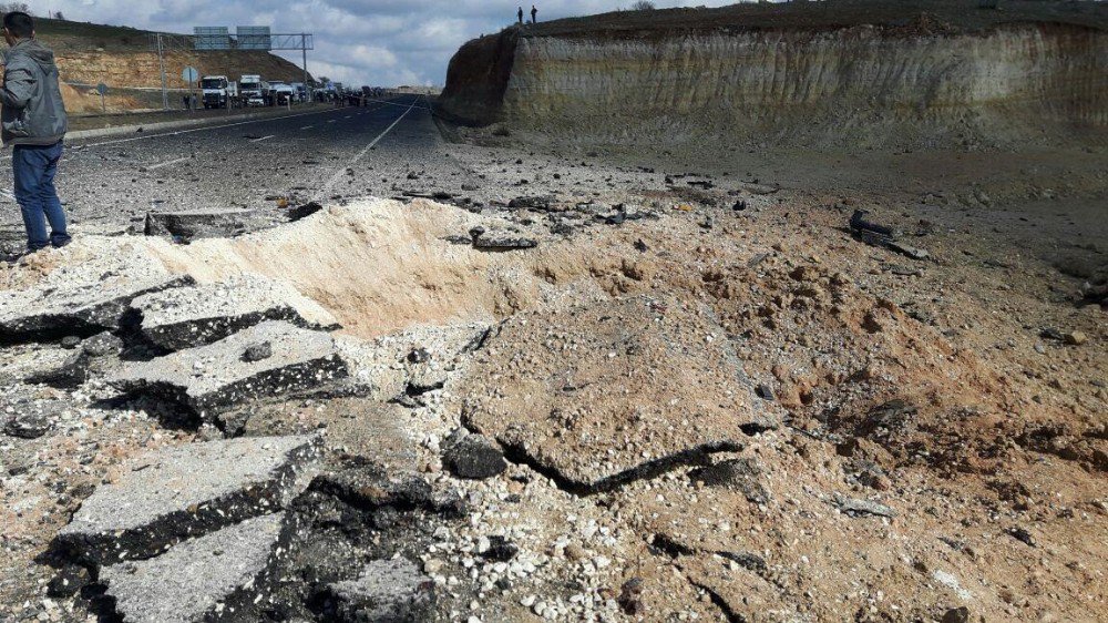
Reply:
M53 145L61 141L68 121L54 53L34 39L12 45L4 65L0 104L6 145Z

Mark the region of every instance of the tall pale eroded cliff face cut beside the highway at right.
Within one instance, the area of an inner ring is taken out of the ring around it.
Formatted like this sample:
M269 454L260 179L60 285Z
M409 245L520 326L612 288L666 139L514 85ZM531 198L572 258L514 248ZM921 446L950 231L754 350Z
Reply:
M1108 127L1108 33L1084 27L479 41L451 62L444 111L555 139L1016 146L1102 141ZM468 69L492 67L491 51L510 71Z

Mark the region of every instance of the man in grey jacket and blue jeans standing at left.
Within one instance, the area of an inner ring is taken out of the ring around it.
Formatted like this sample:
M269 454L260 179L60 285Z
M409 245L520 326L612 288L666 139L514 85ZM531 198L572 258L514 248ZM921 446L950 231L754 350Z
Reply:
M70 236L54 188L54 173L62 156L68 122L54 53L34 39L34 21L27 13L4 14L3 38L11 49L0 89L3 105L0 135L6 145L12 145L14 194L27 227L27 249L65 246Z

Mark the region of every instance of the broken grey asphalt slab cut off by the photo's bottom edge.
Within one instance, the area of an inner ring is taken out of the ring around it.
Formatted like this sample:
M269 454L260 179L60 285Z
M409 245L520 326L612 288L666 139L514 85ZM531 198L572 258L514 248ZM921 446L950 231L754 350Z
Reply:
M150 560L105 566L100 582L129 623L258 621L289 555L284 513L247 519Z

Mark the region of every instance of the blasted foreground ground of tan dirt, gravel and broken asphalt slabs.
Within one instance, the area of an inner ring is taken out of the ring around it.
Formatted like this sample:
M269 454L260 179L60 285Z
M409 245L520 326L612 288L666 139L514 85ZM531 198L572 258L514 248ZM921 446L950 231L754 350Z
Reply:
M1108 616L1092 154L478 142L0 269L0 620Z

